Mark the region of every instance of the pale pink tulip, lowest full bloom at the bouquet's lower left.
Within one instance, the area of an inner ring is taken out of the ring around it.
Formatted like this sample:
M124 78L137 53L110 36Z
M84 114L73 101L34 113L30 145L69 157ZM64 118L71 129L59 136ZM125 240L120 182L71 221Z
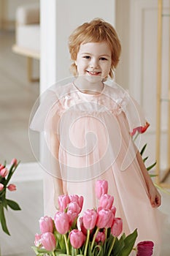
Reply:
M56 246L56 240L53 233L47 232L42 234L41 244L45 247L45 249L47 249L47 251L53 252Z

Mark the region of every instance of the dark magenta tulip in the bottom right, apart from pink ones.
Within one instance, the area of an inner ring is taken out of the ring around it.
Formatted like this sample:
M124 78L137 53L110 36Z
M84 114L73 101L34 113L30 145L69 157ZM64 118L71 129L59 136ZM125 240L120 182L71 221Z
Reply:
M137 244L137 255L136 256L151 256L153 253L153 242L142 241Z

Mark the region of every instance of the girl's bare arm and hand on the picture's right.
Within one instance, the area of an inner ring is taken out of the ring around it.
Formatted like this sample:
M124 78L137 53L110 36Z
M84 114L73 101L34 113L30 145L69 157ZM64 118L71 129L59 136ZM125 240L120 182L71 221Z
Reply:
M144 165L142 156L139 153L139 151L137 151L136 157L139 162L139 166L141 168L142 174L144 176L144 180L147 184L147 189L150 195L150 203L152 207L157 208L158 206L161 206L161 195L158 192L158 189L156 189L155 185L153 184L152 178L150 178L150 175L147 171L147 168Z

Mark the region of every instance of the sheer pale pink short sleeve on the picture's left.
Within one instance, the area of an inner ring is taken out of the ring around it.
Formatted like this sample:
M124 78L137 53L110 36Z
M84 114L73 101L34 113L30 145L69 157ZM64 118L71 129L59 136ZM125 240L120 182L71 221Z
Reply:
M32 111L30 129L58 133L60 102L57 95L54 91L47 90L40 100L39 107L34 107Z

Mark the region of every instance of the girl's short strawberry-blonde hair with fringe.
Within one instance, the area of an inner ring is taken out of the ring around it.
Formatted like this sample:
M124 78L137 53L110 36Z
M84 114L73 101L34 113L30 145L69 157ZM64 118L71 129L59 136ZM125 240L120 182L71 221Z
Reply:
M112 64L109 76L110 78L113 78L113 69L117 67L120 58L120 40L113 26L99 18L91 20L90 23L83 23L69 36L69 53L73 61L71 65L71 72L73 75L77 75L77 66L74 61L77 59L80 45L87 42L104 41L109 44L112 51Z

